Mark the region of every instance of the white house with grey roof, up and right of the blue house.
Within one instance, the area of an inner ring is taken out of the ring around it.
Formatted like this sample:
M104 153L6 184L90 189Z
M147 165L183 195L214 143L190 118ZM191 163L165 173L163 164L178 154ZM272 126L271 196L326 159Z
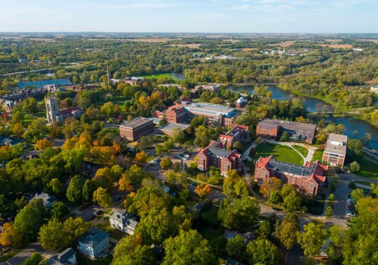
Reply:
M112 216L109 217L110 226L129 235L134 235L137 228L137 218L126 210L117 209Z

